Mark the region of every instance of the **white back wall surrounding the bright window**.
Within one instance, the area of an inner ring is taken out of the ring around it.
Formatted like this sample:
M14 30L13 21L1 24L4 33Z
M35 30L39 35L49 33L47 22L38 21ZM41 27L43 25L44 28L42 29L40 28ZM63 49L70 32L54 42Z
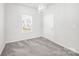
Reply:
M22 32L21 15L33 17L32 32ZM19 4L6 4L6 39L7 42L39 37L41 35L41 17L35 9Z

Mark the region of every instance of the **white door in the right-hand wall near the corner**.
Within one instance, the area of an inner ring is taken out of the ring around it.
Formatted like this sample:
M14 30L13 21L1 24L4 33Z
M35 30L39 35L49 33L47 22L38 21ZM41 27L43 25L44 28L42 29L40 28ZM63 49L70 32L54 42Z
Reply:
M45 36L54 36L54 16L53 14L45 14L43 16L43 35Z

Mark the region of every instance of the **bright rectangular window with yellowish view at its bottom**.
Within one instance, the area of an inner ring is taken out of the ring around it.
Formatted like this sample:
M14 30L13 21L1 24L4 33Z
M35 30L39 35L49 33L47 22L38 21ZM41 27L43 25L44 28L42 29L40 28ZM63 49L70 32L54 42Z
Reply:
M22 15L22 32L32 31L32 16Z

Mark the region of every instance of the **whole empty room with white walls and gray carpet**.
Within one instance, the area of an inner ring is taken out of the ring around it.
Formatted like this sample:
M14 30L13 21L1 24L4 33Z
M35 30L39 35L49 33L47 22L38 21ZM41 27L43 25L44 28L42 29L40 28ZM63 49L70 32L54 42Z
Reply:
M0 3L0 56L79 56L79 3Z

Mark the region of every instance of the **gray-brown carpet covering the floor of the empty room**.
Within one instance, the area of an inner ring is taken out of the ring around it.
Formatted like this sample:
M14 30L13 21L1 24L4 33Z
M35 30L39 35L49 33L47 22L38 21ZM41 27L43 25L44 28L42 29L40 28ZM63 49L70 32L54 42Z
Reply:
M2 56L79 56L79 54L39 37L6 44Z

